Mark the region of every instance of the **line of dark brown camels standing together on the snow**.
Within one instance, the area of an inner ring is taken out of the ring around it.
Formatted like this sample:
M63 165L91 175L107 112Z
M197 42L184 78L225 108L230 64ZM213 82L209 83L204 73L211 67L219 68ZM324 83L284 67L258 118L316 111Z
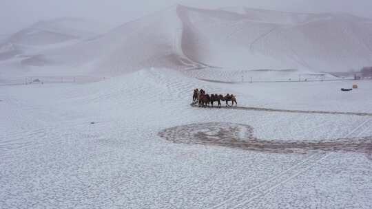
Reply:
M227 94L226 96L223 96L222 94L205 94L205 91L203 89L194 89L194 94L192 96L192 104L198 104L198 107L214 107L214 102L217 102L217 107L221 107L221 101L226 102L226 107L233 107L235 104L235 107L238 105L238 102L236 102L236 96L232 94ZM231 101L231 105L229 105L229 102ZM209 104L211 106L209 106Z

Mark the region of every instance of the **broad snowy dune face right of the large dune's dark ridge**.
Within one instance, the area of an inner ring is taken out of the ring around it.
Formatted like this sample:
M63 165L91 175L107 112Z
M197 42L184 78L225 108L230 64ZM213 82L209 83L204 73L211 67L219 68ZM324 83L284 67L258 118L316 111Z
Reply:
M340 71L371 62L371 20L346 14L244 14L179 7L193 58L219 67Z

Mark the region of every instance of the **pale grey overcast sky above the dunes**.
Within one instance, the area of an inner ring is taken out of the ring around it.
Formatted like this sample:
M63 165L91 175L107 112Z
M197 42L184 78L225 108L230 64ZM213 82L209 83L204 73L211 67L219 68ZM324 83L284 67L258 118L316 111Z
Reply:
M201 8L246 6L291 12L348 12L372 18L372 0L0 0L0 34L57 17L84 17L116 26L176 3Z

